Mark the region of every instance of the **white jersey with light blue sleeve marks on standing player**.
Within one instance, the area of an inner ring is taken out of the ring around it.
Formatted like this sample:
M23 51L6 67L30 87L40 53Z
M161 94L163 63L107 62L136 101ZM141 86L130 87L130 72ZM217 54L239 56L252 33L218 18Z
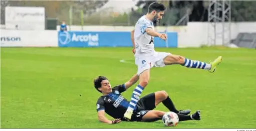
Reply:
M135 25L135 57L150 56L155 52L153 41L154 37L146 33L146 28L154 29L154 25L151 20L147 19L146 16L143 15Z

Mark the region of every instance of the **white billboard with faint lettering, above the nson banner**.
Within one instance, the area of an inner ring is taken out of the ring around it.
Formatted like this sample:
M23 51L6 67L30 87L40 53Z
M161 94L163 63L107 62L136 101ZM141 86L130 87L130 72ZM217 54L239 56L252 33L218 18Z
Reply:
M44 30L45 7L6 7L6 29Z

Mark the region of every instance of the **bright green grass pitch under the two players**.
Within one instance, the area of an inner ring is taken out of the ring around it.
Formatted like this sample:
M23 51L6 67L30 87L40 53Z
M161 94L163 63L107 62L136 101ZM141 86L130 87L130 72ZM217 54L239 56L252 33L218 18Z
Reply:
M156 50L205 62L223 56L215 73L179 65L151 70L142 96L165 90L178 109L201 110L201 121L181 122L175 128L256 128L255 49ZM172 128L161 121L108 125L97 120L101 94L93 79L106 75L113 87L137 71L120 59L133 63L131 48L1 48L1 128ZM123 96L130 100L134 88ZM168 111L162 104L156 110Z

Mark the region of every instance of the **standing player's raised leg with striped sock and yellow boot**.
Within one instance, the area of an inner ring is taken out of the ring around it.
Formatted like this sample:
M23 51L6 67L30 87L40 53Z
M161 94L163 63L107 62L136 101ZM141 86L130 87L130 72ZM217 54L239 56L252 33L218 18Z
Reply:
M190 60L180 55L168 55L164 58L165 65L180 64L187 68L198 68L214 72L216 66L221 62L222 56L218 56L213 62L205 63L197 60Z

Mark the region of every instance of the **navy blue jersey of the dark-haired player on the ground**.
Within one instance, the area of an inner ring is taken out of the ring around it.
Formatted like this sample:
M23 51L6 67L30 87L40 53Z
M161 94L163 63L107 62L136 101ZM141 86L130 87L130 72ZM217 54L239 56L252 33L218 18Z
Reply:
M109 116L115 119L123 119L130 103L121 95L124 91L125 86L122 84L112 88L112 93L101 96L97 101L97 112L105 110Z

